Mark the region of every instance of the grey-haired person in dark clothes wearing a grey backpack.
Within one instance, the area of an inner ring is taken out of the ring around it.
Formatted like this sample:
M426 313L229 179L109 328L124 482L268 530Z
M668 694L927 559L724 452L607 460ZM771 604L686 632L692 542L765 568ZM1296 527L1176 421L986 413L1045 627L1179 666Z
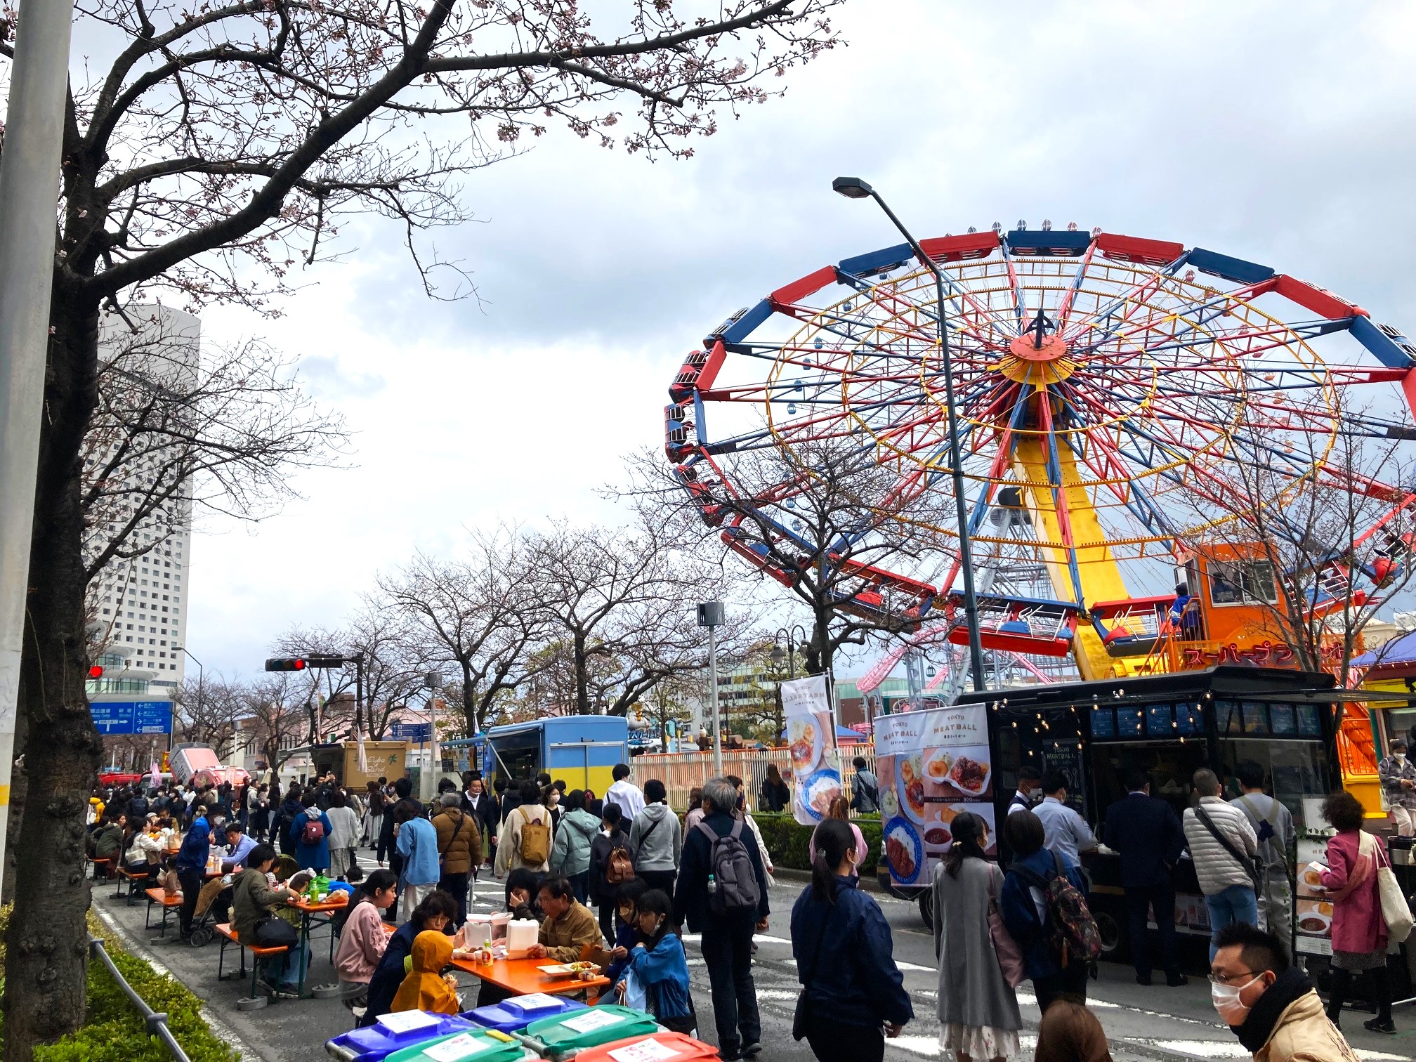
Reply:
M733 816L736 786L711 779L704 786L704 803L707 814L683 845L674 925L687 923L702 933L718 1052L722 1062L732 1062L762 1052L752 933L767 929L767 877L756 840Z

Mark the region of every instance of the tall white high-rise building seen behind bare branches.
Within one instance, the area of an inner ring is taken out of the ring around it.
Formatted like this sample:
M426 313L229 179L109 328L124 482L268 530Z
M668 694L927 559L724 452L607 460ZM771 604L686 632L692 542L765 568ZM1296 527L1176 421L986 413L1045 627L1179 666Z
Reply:
M105 323L99 341L99 361L109 370L109 381L122 388L129 372L143 381L173 384L181 394L195 379L201 321L166 306L140 306L130 319L142 321L135 336L120 320ZM116 368L116 371L113 371ZM147 391L150 388L143 385ZM143 388L135 394L144 394ZM113 402L122 406L122 402ZM154 418L156 422L156 418ZM105 486L106 500L92 513L89 556L98 555L110 537L132 518L135 503L152 497L177 457L171 445L157 445L163 430L142 433L112 419L110 428L92 435L85 455L89 480L101 476L115 460L120 472ZM91 632L102 647L99 663L103 677L89 683L91 698L98 700L169 700L183 680L185 657L176 649L187 643L187 613L191 593L191 483L183 481L171 498L142 520L125 544L123 552L144 549L139 556L112 558L89 583ZM150 548L149 548L150 547Z

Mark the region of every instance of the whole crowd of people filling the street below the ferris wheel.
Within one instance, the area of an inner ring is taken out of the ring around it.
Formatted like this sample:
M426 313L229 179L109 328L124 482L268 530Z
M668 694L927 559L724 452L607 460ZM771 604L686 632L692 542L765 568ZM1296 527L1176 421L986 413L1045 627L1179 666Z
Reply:
M1416 786L1400 784L1409 770L1405 745L1400 755L1395 787L1410 792ZM1383 783L1393 784L1385 765ZM855 799L834 801L810 837L811 884L790 913L803 986L793 1032L821 1062L881 1059L886 1038L915 1017L889 925L860 891L868 851L851 811L872 810L878 782L862 759L855 767ZM760 793L772 807L790 799L779 783L769 775ZM1020 1056L1017 990L1031 981L1042 1012L1037 1059L1109 1059L1100 1024L1086 1008L1099 942L1080 855L1100 844L1120 855L1133 940L1147 939L1154 915L1168 986L1187 983L1172 871L1188 850L1214 930L1212 1001L1256 1058L1354 1059L1340 1029L1354 976L1365 978L1378 1008L1365 1028L1392 1032L1375 872L1383 852L1361 828L1361 804L1342 792L1323 804L1335 830L1321 871L1334 949L1324 1005L1281 936L1270 932L1291 918L1291 814L1264 792L1257 765L1240 763L1235 783L1239 793L1226 800L1214 772L1195 772L1195 801L1177 816L1136 775L1097 835L1068 803L1066 776L1022 769L1001 828L1011 852L1007 871L986 855L986 821L957 814L932 882L940 1049L957 1062ZM762 1052L753 935L769 927L776 882L741 777L694 789L683 820L664 783L647 779L640 787L627 765L615 767L603 797L568 790L548 775L513 786L498 777L489 790L469 772L460 790L442 782L430 807L412 797L408 779L353 792L333 775L283 792L263 783L96 790L92 806L92 857L180 889L184 937L219 861L228 877L215 903L229 912L238 939L289 944L263 971L270 993L295 994L307 954L290 930L297 923L292 905L310 875L329 874L330 888L351 893L336 926L334 964L361 1024L396 1010L473 1005L457 995L445 967L459 954L455 935L469 918L472 885L490 871L504 882L506 909L537 920L532 956L606 957L613 990L602 1001L632 1001L670 1028L698 1024L680 937L685 929L698 933L721 1058ZM361 845L375 848L377 868L360 865ZM388 935L385 920L401 925ZM1136 980L1151 984L1150 950L1131 952ZM474 1005L498 1000L498 990L484 984Z

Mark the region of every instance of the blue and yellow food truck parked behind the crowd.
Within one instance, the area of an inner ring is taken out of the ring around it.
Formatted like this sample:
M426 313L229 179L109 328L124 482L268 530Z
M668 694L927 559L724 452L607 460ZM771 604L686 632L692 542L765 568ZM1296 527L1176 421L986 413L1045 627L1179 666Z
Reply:
M603 794L616 763L629 763L629 721L623 715L564 715L493 726L476 738L440 742L445 755L466 756L487 779L515 784L541 772L571 789ZM455 752L456 750L456 752Z

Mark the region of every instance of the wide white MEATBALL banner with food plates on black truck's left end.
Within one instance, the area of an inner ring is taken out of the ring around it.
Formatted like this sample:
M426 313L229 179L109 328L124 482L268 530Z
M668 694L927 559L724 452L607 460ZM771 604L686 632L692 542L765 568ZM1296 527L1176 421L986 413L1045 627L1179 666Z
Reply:
M963 813L984 821L984 850L997 854L993 758L983 705L881 715L875 719L875 775L891 878L930 881L933 864L953 844Z

